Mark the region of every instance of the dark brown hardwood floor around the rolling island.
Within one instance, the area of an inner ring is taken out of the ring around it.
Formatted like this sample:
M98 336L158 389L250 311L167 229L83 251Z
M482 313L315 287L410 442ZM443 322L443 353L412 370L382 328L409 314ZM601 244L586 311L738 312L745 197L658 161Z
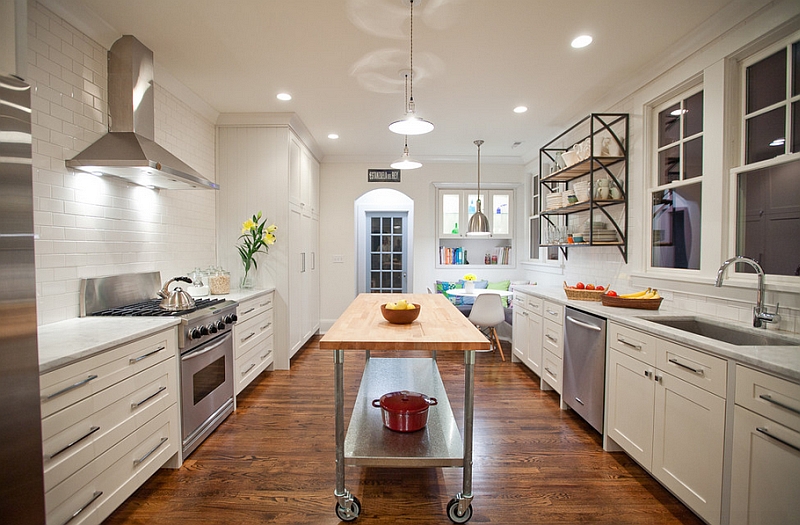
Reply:
M105 523L339 523L333 357L317 340L290 371L262 374L180 469L160 470ZM460 418L463 354L440 352L438 363ZM346 353L346 405L363 364L363 353ZM479 353L475 368L469 523L702 523L628 456L604 452L600 435L559 410L556 394L539 390L523 365ZM345 476L363 505L355 523L447 524L445 507L461 490L462 469L347 468Z

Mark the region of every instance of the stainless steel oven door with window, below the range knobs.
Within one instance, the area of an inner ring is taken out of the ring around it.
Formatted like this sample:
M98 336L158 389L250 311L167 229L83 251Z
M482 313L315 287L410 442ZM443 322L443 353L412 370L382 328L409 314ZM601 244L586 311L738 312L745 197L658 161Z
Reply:
M233 412L233 389L230 331L181 356L184 458Z

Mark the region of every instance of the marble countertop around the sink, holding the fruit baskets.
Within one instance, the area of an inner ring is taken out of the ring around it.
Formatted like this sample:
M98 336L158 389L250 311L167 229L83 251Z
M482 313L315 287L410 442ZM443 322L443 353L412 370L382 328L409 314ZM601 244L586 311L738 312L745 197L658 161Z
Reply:
M709 339L677 328L664 326L648 321L653 317L696 317L711 321L720 326L728 326L736 330L748 330L763 333L764 330L752 328L745 323L721 320L716 317L698 313L687 313L681 310L665 308L658 310L638 310L633 308L614 308L603 306L593 301L575 301L567 299L564 290L558 287L540 287L536 285L515 286L515 291L547 299L555 303L576 308L578 310L604 317L621 325L685 344L709 354L732 359L753 368L770 372L790 381L800 383L800 335L778 330L769 330L770 335L779 335L794 344L789 346L738 346Z

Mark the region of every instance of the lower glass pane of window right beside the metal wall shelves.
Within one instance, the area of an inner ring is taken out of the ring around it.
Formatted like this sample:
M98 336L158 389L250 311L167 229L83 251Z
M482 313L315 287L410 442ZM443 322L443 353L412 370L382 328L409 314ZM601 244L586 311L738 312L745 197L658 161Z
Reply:
M652 266L700 269L700 199L696 183L652 194Z

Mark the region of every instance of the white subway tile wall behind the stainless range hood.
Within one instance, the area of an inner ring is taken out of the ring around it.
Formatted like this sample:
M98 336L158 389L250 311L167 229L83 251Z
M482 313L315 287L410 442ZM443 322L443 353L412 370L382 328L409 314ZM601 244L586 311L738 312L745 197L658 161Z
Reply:
M28 8L39 324L78 316L80 278L216 261L210 190L147 190L67 171L108 127L106 49L41 4ZM155 86L156 141L214 180L214 124Z

